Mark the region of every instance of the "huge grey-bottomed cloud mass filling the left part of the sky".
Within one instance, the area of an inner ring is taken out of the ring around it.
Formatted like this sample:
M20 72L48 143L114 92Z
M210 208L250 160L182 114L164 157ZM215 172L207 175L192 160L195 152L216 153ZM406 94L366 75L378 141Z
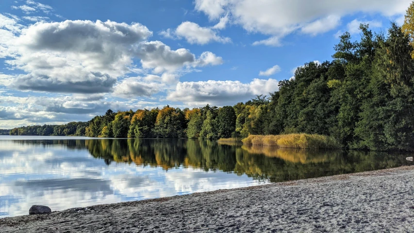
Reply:
M0 18L4 19L0 21L0 48L4 48L0 57L10 57L5 61L8 66L27 73L8 85L23 91L107 93L114 90L118 77L130 73L149 69L161 74L161 81L176 83L179 76L174 72L182 67L222 64L222 58L211 52L196 58L189 50L171 50L160 41L148 41L152 32L139 23L66 20L24 27L17 19Z

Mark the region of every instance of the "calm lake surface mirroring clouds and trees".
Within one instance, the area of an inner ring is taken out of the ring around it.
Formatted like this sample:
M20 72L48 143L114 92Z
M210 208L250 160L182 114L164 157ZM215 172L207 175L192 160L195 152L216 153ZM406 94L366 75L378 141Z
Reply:
M408 154L0 136L0 217L412 165ZM412 156L412 155L410 155Z

